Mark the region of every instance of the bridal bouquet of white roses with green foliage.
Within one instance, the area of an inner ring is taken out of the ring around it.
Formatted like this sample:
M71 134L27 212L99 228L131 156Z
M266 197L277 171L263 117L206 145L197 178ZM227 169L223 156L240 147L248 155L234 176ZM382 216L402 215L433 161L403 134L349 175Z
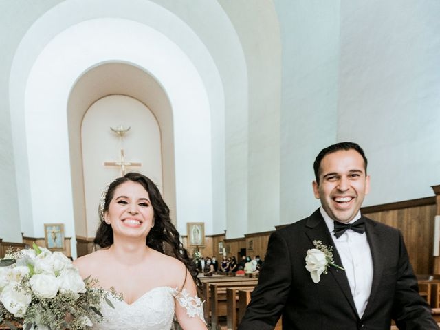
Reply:
M0 260L0 325L25 330L91 329L100 322L100 302L109 292L96 279L81 278L61 252L34 244L33 249L8 251ZM115 292L111 293L115 294ZM114 308L114 307L113 307Z

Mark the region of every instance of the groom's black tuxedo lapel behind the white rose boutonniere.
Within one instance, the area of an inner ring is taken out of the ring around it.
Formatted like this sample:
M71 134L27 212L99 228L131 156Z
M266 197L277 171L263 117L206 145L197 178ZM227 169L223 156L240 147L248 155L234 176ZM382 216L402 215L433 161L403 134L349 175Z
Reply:
M310 241L321 241L322 244L333 247L333 261L336 265L342 265L342 261L338 254L338 250L336 250L335 244L333 243L333 239L331 239L331 234L329 232L329 228L325 224L324 219L320 213L320 210L316 210L314 214L311 214L309 219L307 219L306 227L309 230L306 230L306 234L309 237ZM353 300L353 296L351 295L349 280L347 278L347 274L343 270L338 270L335 267L329 267L329 272L335 278L336 282L340 286L340 289L344 293L344 296L347 298L347 301L356 315L358 315L358 311L355 306L355 302Z

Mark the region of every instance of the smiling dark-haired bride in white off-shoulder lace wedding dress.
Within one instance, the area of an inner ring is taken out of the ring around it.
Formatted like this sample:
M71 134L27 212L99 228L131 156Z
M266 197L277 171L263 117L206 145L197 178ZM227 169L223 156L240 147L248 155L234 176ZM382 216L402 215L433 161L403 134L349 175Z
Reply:
M123 300L111 297L114 309L102 303L104 320L93 329L168 330L174 316L184 330L207 329L197 270L169 212L153 181L139 173L115 179L102 192L95 239L102 249L74 264L83 278L98 278Z

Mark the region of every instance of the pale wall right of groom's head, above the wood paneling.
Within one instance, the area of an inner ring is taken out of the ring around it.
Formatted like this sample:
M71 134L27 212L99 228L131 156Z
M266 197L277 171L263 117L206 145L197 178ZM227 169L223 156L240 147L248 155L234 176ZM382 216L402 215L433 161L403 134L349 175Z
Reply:
M369 158L365 205L440 184L440 2L343 0L338 140Z

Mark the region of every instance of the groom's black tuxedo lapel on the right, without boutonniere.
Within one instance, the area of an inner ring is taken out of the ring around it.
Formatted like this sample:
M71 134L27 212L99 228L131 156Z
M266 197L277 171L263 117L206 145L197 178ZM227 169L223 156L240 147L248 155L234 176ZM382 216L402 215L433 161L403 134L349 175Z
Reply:
M373 305L375 294L377 293L377 288L379 287L380 279L382 278L382 272L384 270L383 254L384 251L384 239L380 236L376 228L376 223L368 218L365 220L365 232L366 238L369 241L371 258L373 259L373 282L371 283L371 292L369 297L369 303L366 305L364 316L368 315L371 306Z

